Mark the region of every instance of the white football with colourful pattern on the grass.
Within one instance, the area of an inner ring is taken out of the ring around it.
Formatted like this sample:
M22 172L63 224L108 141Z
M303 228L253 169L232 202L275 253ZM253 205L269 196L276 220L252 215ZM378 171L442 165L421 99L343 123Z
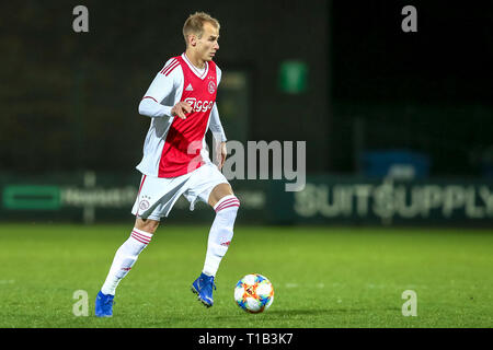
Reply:
M246 275L238 281L234 288L234 301L248 313L262 313L274 302L274 287L262 275Z

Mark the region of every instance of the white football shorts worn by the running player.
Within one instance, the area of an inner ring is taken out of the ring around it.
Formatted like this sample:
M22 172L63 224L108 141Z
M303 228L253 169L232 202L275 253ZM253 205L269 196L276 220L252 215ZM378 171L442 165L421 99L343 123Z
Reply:
M213 163L176 177L142 175L131 213L141 219L159 221L168 217L181 195L190 201L190 210L194 210L197 200L208 203L214 187L225 183L229 184L228 179Z

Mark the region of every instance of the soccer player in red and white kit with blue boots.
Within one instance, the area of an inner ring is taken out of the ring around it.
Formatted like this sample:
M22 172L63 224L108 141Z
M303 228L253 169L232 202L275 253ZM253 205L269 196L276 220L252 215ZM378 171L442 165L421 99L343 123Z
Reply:
M135 226L117 249L95 301L95 315L113 315L113 300L121 280L152 240L161 218L168 217L180 196L191 203L207 202L216 211L209 231L200 276L192 291L213 306L214 279L233 236L240 201L220 173L227 156L226 136L216 106L221 70L213 61L219 49L219 22L204 12L188 16L183 26L186 50L167 61L139 104L139 114L151 118L137 165L142 174L131 210ZM205 135L217 141L216 164L206 150Z

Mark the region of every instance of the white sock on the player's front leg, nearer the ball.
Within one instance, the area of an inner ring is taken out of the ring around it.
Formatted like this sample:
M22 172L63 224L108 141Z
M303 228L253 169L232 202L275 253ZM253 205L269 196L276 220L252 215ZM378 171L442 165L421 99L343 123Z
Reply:
M214 219L210 228L203 269L203 272L207 276L216 276L219 264L228 250L233 236L233 225L239 207L240 201L232 195L222 197L214 206L216 219Z

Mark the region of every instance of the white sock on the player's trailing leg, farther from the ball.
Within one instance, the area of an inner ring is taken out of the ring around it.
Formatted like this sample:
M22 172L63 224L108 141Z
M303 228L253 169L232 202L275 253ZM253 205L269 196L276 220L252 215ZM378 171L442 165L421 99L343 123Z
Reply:
M116 250L106 281L101 288L103 294L115 295L119 281L130 271L140 252L147 247L151 238L151 233L134 228L130 237Z

